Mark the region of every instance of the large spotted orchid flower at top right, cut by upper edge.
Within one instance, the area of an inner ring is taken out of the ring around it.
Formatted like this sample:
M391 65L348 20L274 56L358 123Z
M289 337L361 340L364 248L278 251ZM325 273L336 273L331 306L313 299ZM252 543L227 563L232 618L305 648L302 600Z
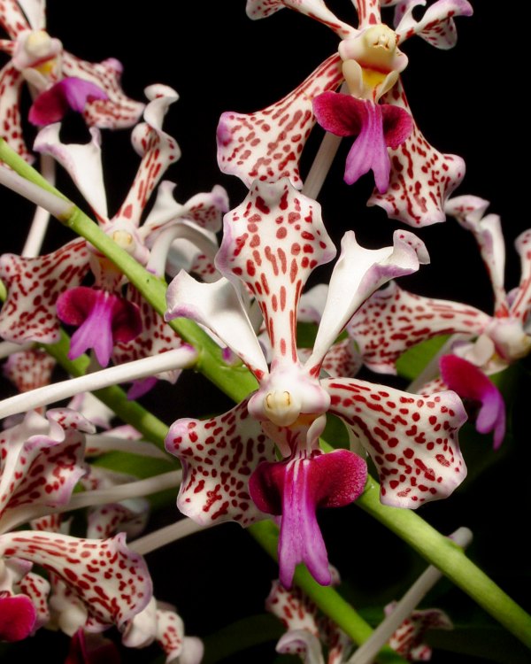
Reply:
M395 2L354 4L357 28L338 19L322 0L248 0L251 19L289 7L324 23L342 41L335 55L281 101L259 112L221 115L219 167L248 187L257 178L289 177L301 189L298 162L317 120L335 135L357 136L347 157L345 181L351 184L373 170L377 190L369 205L381 205L390 218L412 226L443 221L444 201L462 180L465 165L455 155L436 151L412 120L399 78L407 57L399 47L419 35L436 48L449 49L456 42L453 17L468 16L472 8L466 0L439 0L416 20L413 9L425 3L400 3L393 30L381 22L380 4ZM335 92L342 81L348 94Z

